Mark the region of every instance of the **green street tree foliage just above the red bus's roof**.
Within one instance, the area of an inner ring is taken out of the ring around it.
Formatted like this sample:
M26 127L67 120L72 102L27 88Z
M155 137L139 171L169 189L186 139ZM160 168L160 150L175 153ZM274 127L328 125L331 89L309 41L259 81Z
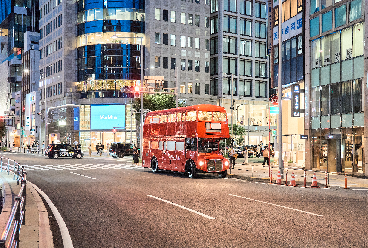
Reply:
M151 109L151 111L175 108L175 95L173 94L143 94L143 108ZM184 102L179 101L179 107L183 107ZM133 101L134 109L141 109L141 99L135 98ZM139 119L139 113L136 114L136 118Z

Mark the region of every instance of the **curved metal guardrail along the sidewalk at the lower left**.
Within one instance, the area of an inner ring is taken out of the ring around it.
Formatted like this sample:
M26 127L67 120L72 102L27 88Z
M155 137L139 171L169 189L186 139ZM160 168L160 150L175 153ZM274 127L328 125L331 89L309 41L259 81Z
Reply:
M11 161L13 164L11 165ZM17 167L17 169L15 168ZM26 202L26 187L27 187L27 172L24 170L24 166L21 166L14 160L7 159L7 162L3 162L3 157L0 158L0 172L3 168L7 170L7 174L13 169L13 180L15 180L15 174L17 175L17 185L21 182L21 189L18 196L15 196L14 205L11 210L9 219L0 236L0 248L13 248L19 246L19 233L22 225L25 221L25 202ZM13 228L12 228L13 226ZM7 242L7 246L6 246Z

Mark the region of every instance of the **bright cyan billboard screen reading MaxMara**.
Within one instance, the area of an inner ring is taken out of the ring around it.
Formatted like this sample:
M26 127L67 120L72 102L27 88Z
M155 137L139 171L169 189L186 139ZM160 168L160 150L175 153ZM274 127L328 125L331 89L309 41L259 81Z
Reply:
M91 130L125 128L125 105L91 105Z

